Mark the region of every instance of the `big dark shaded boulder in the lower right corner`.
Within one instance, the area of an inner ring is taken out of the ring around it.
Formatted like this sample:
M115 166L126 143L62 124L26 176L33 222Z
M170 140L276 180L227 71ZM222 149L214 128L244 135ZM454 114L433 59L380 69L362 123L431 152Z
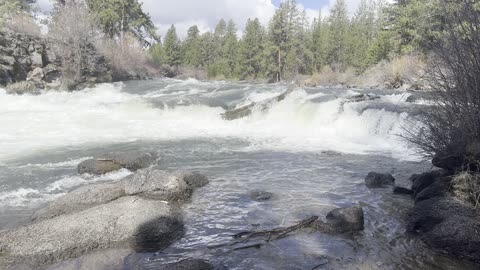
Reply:
M416 203L407 231L434 249L480 262L480 211L451 197Z

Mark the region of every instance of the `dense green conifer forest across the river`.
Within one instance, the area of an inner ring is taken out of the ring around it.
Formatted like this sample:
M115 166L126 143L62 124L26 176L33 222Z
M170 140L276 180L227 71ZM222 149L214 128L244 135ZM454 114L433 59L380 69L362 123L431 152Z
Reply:
M337 0L329 16L319 14L310 23L295 0L286 0L268 26L249 19L241 38L234 23L222 19L213 33L192 26L174 46L166 42L171 29L163 46L155 44L150 54L158 64L201 68L217 79L280 81L327 71L358 75L383 60L428 52L425 44L439 27L433 2L362 0L352 17L345 0Z

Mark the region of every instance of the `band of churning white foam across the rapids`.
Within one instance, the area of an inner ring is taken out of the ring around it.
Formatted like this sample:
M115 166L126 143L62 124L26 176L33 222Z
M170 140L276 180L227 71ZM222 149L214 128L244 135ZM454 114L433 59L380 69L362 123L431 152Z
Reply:
M213 83L172 80L172 85L179 84L191 85L192 90ZM39 96L0 92L0 161L67 146L191 138L239 138L250 143L246 151L334 150L412 158L396 136L408 117L405 113L374 109L360 113L358 106L365 104L342 105L341 100L313 103L311 95L297 90L268 112L225 121L220 107L160 109L148 98L121 89L121 84L101 84L79 92ZM247 99L258 101L283 91L279 86L266 94L254 92Z

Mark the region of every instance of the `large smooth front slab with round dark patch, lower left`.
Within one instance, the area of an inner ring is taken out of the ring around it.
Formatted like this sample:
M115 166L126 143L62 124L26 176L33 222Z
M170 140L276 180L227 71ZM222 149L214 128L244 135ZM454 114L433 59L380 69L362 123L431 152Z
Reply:
M97 249L161 250L184 232L168 204L123 197L87 210L0 233L0 254L47 265ZM1 268L1 265L0 265Z

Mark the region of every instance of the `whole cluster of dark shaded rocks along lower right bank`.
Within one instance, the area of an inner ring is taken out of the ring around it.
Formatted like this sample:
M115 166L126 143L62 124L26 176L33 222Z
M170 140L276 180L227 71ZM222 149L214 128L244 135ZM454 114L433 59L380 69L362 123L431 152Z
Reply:
M480 210L452 196L451 172L431 171L410 179L415 206L407 231L440 252L480 262Z

